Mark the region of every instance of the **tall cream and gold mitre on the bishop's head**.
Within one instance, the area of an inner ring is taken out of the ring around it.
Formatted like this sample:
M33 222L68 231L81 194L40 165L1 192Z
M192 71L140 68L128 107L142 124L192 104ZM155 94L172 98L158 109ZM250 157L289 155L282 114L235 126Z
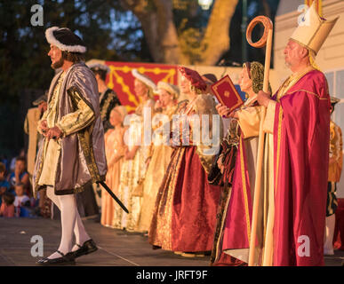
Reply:
M313 51L316 55L339 18L334 20L321 18L316 12L316 5L313 2L300 21L299 27L293 32L291 39Z

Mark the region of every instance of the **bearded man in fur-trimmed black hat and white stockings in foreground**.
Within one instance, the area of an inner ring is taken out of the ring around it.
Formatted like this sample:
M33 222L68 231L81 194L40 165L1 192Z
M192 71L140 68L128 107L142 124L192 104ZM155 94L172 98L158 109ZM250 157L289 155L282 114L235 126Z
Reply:
M37 264L75 264L77 256L97 249L84 229L75 194L105 180L104 130L97 82L84 64L83 40L68 28L58 27L48 28L45 37L52 68L61 71L52 79L48 109L38 123L44 145L36 159L33 185L35 193L47 188L47 195L60 208L62 236L58 250Z

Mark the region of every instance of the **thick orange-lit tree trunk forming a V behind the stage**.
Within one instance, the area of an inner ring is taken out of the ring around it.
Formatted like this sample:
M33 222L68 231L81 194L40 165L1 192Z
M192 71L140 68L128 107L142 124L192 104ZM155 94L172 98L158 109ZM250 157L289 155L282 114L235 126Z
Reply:
M238 0L216 0L204 39L201 42L202 65L214 65L229 49L229 24ZM121 0L141 22L149 51L155 62L190 64L182 53L173 21L172 0Z

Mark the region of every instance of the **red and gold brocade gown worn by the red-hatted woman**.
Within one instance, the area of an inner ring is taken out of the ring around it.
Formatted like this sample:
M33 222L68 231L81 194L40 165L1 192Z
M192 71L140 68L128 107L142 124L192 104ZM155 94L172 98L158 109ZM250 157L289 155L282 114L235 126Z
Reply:
M194 114L210 114L209 130L212 133L212 128L217 128L220 146L222 124L219 115L219 123L212 123L212 114L218 113L211 95L197 95L188 104L180 103L177 113L186 114L188 119ZM204 131L203 123L200 125ZM165 250L197 252L212 249L220 187L208 184L207 172L218 148L212 154L205 154L206 146L193 145L194 127L195 123L190 122L189 145L173 148L171 162L156 197L148 241ZM178 123L177 128L180 139L183 133L180 133Z

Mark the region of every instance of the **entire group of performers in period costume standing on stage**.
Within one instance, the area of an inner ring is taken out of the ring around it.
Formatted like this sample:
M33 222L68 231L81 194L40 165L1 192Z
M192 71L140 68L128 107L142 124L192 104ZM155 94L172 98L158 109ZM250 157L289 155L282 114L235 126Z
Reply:
M100 91L94 75L104 81L108 67L76 62L57 74L38 126L45 139L34 186L36 192L47 187L60 204L62 241L60 256L39 263L73 263L96 249L66 197L106 181L129 213L102 190L101 225L144 233L152 248L181 256L211 254L212 265L248 264L260 114L267 107L254 264L324 265L327 188L331 216L341 132L333 122L330 129L333 100L314 57L335 20L321 19L314 7L309 13L311 28L297 28L284 51L292 75L269 97L262 92L264 67L245 63L239 84L248 99L235 112L217 104L207 77L188 67L178 68L179 87L133 69L140 105L130 115L114 91ZM50 28L46 37L61 51L85 51L67 28ZM148 141L147 122L154 133ZM59 130L50 132L54 127ZM300 254L304 236L308 243Z

